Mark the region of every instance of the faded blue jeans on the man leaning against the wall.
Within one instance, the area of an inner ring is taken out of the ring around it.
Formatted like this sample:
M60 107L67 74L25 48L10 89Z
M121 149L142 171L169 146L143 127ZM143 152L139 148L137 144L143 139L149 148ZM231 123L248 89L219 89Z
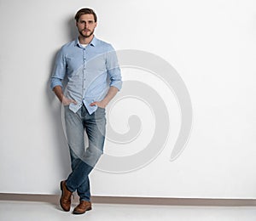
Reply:
M72 173L69 174L67 189L77 190L80 201L90 201L89 173L95 167L103 153L106 133L105 109L97 108L91 115L83 105L78 112L64 107L67 143L71 156ZM84 132L88 136L88 147L85 149Z

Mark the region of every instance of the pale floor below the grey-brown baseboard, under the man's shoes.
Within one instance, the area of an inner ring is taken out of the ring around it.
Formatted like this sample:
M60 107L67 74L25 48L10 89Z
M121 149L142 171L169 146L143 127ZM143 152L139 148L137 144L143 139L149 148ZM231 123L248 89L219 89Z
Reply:
M73 215L72 212L63 212L58 205L47 202L0 201L0 220L255 221L256 207L182 207L94 203L90 212Z

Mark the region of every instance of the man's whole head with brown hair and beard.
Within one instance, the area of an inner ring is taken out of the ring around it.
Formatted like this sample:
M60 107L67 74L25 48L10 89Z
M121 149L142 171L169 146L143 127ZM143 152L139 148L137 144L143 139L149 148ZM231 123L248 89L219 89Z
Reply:
M76 26L80 36L91 37L97 25L97 16L90 8L82 8L75 15Z

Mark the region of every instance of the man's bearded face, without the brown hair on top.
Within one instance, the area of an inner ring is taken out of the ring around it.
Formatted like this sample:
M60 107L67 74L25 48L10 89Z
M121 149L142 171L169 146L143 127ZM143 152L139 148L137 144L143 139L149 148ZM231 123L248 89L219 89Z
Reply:
M90 37L93 34L96 25L97 23L94 21L93 14L83 14L77 22L77 27L82 37Z

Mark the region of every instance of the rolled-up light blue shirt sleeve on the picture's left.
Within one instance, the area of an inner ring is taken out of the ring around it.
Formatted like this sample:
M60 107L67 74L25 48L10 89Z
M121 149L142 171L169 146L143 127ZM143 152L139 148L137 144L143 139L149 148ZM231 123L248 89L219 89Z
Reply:
M50 88L53 89L56 86L62 87L62 80L66 73L66 59L63 53L63 48L58 52L55 59L55 67L50 78Z

